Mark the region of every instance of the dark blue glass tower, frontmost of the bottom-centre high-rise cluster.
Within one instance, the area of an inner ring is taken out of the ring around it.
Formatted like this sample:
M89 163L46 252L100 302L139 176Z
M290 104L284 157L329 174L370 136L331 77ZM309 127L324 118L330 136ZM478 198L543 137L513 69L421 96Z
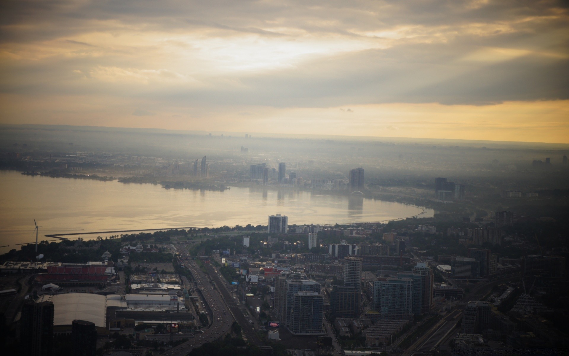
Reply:
M296 292L288 330L295 335L324 334L324 296L320 292Z

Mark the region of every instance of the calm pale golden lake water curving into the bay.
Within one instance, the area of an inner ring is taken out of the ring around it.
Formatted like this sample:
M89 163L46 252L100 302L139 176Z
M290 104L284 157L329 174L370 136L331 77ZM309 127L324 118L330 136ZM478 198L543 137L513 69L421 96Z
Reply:
M273 214L287 215L289 224L333 224L400 219L422 211L401 203L308 191L166 190L159 185L0 171L0 245L10 245L0 252L35 241L34 219L41 240L46 234L68 232L266 225L267 215ZM426 210L422 216L433 213Z

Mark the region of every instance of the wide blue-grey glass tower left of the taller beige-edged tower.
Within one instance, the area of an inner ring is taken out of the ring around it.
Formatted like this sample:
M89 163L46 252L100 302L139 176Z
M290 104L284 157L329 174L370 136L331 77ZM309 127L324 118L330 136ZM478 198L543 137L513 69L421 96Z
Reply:
M413 280L389 277L374 281L373 309L382 319L413 318Z

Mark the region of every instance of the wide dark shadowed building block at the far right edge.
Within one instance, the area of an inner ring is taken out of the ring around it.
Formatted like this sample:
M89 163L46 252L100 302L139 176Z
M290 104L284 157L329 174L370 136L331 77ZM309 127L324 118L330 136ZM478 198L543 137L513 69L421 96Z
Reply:
M535 280L544 284L563 279L565 271L565 257L530 255L522 259L522 279L529 292Z

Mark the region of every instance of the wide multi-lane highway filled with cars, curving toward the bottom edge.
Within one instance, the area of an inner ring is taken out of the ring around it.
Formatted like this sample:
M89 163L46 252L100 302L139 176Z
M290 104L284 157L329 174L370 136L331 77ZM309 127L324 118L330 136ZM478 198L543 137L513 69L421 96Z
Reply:
M178 252L182 258L189 257L185 247L178 245ZM178 257L176 257L178 258ZM195 289L199 289L205 300L205 310L209 310L209 317L211 317L211 325L208 328L202 328L201 332L197 332L189 341L182 343L172 349L167 350L163 355L167 356L185 356L190 353L195 347L199 347L207 342L213 342L217 339L224 337L225 334L230 332L233 323L232 314L228 311L223 298L214 290L212 284L209 282L209 277L201 271L201 269L192 260L178 260L179 264L188 268L191 271ZM187 281L187 280L185 280ZM184 282L185 282L184 281ZM194 293L196 295L199 293ZM196 316L196 322L199 316Z

